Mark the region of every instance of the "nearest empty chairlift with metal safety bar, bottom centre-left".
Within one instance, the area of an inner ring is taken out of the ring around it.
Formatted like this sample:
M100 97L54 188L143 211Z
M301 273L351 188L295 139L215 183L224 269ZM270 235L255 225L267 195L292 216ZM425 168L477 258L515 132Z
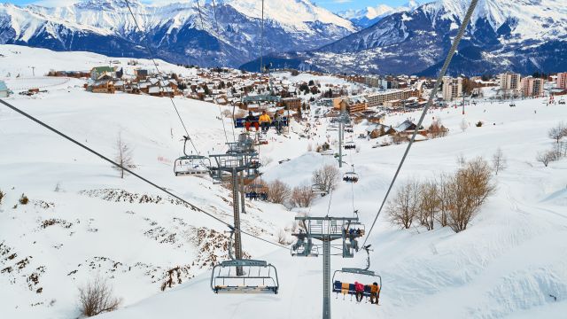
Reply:
M230 228L229 257L215 265L211 272L211 290L214 293L275 293L279 290L277 269L267 261L237 260L232 255L232 237ZM238 268L242 274L238 274Z

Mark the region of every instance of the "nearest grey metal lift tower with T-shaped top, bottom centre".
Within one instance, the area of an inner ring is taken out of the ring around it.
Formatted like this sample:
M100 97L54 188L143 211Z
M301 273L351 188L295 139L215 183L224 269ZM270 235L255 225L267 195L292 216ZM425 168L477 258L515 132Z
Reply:
M358 217L296 217L305 227L305 233L293 234L298 237L298 245L310 245L311 239L322 241L322 319L330 319L330 247L334 240L342 239L340 245L332 245L343 251L343 258L353 258L358 251L357 238L364 235L364 226L358 222ZM307 240L306 240L307 238ZM299 247L298 247L299 249ZM311 247L308 247L311 249ZM307 253L292 254L307 256ZM310 256L316 257L314 254Z

